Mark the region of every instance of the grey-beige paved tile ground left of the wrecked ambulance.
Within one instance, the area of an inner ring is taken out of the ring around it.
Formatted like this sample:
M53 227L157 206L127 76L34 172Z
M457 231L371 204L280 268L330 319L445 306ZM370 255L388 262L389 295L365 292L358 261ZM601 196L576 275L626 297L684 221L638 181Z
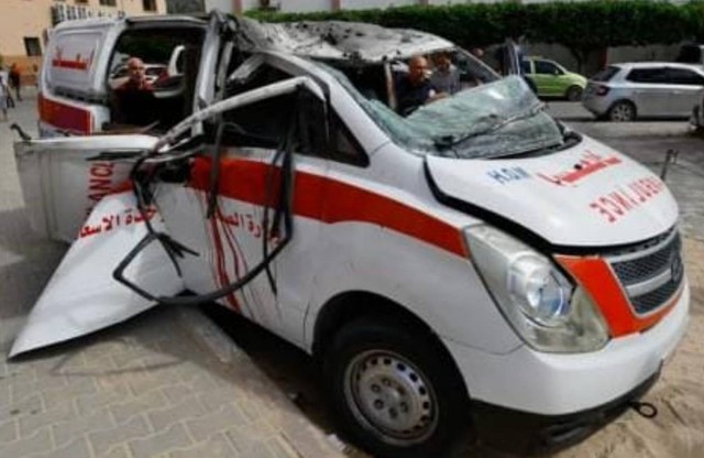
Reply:
M34 131L35 100L13 120ZM158 308L7 361L66 247L32 235L0 123L0 457L334 457L323 433L194 308Z

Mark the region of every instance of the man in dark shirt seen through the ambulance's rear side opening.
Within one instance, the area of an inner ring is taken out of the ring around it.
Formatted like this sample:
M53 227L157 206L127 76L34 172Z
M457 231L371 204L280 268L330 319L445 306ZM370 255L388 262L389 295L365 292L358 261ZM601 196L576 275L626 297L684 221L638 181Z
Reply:
M114 89L113 96L113 123L147 126L157 121L154 88L146 81L141 58L128 61L128 80Z

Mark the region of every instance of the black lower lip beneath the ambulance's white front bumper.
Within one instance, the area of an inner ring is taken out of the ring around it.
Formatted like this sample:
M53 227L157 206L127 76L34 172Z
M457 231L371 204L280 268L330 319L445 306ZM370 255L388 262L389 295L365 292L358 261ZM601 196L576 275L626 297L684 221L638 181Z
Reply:
M654 384L660 371L623 396L569 415L537 415L496 407L482 402L472 405L472 422L482 443L514 454L544 452L575 444L629 408Z

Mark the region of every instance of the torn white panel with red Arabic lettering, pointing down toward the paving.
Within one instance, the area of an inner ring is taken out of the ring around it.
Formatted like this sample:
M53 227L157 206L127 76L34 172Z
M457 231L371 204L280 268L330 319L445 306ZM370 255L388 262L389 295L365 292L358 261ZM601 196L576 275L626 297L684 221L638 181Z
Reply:
M125 248L146 235L145 218L165 231L156 211L140 214L131 190L106 196L96 206L32 308L10 357L100 330L156 305L112 277ZM125 275L162 295L184 290L158 243L142 251Z

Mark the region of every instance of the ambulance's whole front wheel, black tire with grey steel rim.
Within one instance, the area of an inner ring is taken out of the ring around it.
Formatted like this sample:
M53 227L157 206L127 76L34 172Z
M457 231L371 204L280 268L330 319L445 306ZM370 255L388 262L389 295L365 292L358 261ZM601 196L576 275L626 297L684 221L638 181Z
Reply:
M324 355L323 382L341 430L375 457L442 457L468 430L464 384L417 326L367 317L343 326Z

